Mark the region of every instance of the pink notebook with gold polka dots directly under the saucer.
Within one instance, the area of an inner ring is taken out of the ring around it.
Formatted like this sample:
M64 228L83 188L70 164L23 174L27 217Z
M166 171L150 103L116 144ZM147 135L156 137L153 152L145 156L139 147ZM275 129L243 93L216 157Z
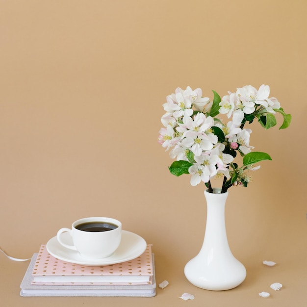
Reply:
M152 246L127 262L107 266L83 266L51 256L41 245L32 270L32 285L125 285L153 282Z

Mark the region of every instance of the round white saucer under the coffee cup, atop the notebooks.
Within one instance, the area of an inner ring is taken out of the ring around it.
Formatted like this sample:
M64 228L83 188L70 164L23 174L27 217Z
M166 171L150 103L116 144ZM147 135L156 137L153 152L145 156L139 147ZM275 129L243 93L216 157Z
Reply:
M72 238L68 232L62 233L62 238L64 243L73 245ZM122 230L122 240L119 248L113 255L103 259L88 260L83 258L77 251L62 246L56 236L51 238L46 245L48 253L57 259L89 266L110 265L129 261L142 255L146 247L147 243L142 237L126 230Z

